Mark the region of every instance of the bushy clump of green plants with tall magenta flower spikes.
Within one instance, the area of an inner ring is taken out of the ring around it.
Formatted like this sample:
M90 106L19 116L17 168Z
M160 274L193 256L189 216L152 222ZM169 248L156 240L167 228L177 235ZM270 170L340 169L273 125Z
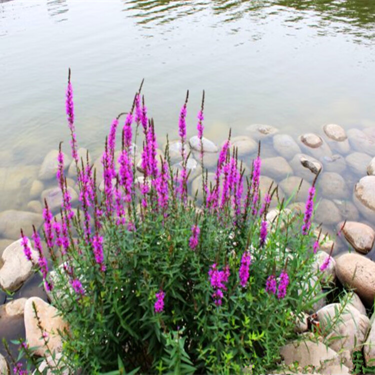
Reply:
M49 370L268 373L281 361L280 346L296 338L302 311L322 297L310 286L318 247L311 228L314 186L303 215L284 210L276 186L261 192L259 152L246 172L230 134L209 182L203 104L204 93L196 124L202 199L189 183L187 96L174 168L168 144L157 151L140 89L128 112L111 123L100 191L88 157L78 158L69 73L66 113L79 205L72 208L60 144L60 219L45 204L42 228L53 276L35 229L33 235L51 303L70 327L60 332L62 356L48 361ZM140 151L134 144L139 133ZM274 201L278 213L268 215ZM23 244L30 257L25 238ZM25 352L32 357L32 348Z

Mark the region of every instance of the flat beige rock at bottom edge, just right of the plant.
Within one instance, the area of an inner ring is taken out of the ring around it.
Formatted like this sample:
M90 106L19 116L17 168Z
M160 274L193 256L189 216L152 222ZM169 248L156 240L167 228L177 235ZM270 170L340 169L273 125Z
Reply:
M338 354L320 341L292 341L280 348L280 355L291 369L297 363L299 368L314 368L314 373L349 375L349 369L340 364Z

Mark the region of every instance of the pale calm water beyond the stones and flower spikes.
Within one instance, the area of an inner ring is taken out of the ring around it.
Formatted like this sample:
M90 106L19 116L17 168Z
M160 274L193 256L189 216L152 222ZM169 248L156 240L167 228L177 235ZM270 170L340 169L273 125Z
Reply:
M374 36L373 0L0 0L0 210L29 200L9 167L37 168L60 140L69 152L69 66L78 142L95 159L142 78L161 139L176 137L187 89L189 135L204 89L217 143L251 123L294 138L374 126Z

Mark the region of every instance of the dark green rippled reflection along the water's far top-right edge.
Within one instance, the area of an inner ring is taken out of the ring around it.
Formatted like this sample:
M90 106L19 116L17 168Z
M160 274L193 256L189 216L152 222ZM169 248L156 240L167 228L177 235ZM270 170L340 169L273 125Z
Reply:
M283 23L298 27L306 21L318 34L347 33L365 39L375 35L373 0L122 0L124 11L139 24L170 22L209 9L220 16L217 22L231 22L243 16L269 17L288 13ZM252 19L257 21L257 19ZM215 24L211 24L215 26Z

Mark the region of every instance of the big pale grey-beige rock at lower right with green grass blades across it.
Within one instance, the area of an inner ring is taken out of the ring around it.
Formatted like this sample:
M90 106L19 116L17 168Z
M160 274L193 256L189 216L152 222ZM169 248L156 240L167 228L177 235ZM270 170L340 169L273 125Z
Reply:
M337 319L339 312L340 319ZM361 349L370 326L368 317L350 305L342 311L339 303L328 304L316 313L329 347L339 353L345 365L351 367L352 353Z

